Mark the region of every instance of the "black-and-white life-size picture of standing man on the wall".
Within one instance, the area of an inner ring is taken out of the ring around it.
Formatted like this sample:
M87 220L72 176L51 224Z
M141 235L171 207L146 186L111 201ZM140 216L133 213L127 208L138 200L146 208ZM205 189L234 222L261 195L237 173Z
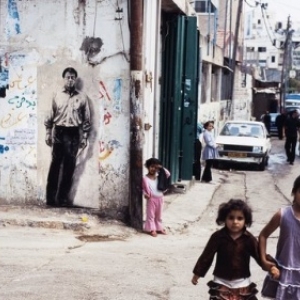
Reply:
M53 95L52 107L45 119L46 144L52 147L46 200L49 206L72 206L69 199L76 157L87 146L91 129L88 98L75 87L77 71L66 68L64 88Z

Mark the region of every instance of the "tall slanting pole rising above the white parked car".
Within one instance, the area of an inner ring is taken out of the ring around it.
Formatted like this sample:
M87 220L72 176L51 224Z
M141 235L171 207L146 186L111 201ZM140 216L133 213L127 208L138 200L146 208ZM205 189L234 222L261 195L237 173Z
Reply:
M236 23L235 23L235 34L234 34L234 43L233 43L233 51L232 51L232 60L231 60L231 90L230 90L230 97L231 97L231 114L234 110L234 101L233 101L233 95L234 95L234 79L235 79L235 65L236 65L236 55L237 55L237 49L238 49L238 42L239 42L239 32L240 32L240 24L241 24L241 16L243 12L243 2L244 0L239 0L238 3L238 9L237 9L237 15L236 15Z

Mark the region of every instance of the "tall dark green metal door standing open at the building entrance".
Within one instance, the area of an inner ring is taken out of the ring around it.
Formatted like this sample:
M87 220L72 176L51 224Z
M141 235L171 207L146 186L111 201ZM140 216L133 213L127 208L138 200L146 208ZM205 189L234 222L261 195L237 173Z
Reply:
M193 174L199 35L196 17L169 15L164 24L159 149L174 183Z

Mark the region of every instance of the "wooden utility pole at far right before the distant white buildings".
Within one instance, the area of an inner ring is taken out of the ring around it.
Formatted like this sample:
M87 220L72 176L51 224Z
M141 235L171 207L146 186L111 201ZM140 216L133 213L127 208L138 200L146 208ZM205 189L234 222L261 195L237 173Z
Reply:
M291 20L290 16L288 16L287 25L286 25L286 38L284 42L284 50L283 50L283 61L282 61L282 70L281 70L281 80L280 80L280 100L279 100L279 108L280 111L282 108L285 108L285 94L286 94L286 82L288 79L288 66L289 66L289 58L290 58L290 42L292 32L290 30Z

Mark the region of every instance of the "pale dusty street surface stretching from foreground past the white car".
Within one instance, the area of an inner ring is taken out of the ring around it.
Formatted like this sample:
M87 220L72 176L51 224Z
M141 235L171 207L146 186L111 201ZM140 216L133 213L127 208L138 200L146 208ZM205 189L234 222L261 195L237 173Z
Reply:
M109 221L95 225L91 220L89 229L78 231L53 229L50 213L48 218L40 214L39 225L32 220L31 226L16 226L11 225L13 218L26 216L2 213L1 299L208 299L206 283L214 265L197 286L191 278L209 236L220 228L215 223L219 204L231 198L246 201L253 209L249 230L257 237L269 218L292 201L300 158L297 155L291 166L284 142L273 137L272 146L264 172L213 169L215 185L196 181L185 193L165 196L163 223L168 234L155 238ZM5 220L8 215L11 219ZM77 214L78 219L82 216ZM68 214L60 217L67 220ZM271 255L277 238L274 233L268 241ZM251 273L260 291L266 272L251 260ZM260 293L258 299L263 299Z

